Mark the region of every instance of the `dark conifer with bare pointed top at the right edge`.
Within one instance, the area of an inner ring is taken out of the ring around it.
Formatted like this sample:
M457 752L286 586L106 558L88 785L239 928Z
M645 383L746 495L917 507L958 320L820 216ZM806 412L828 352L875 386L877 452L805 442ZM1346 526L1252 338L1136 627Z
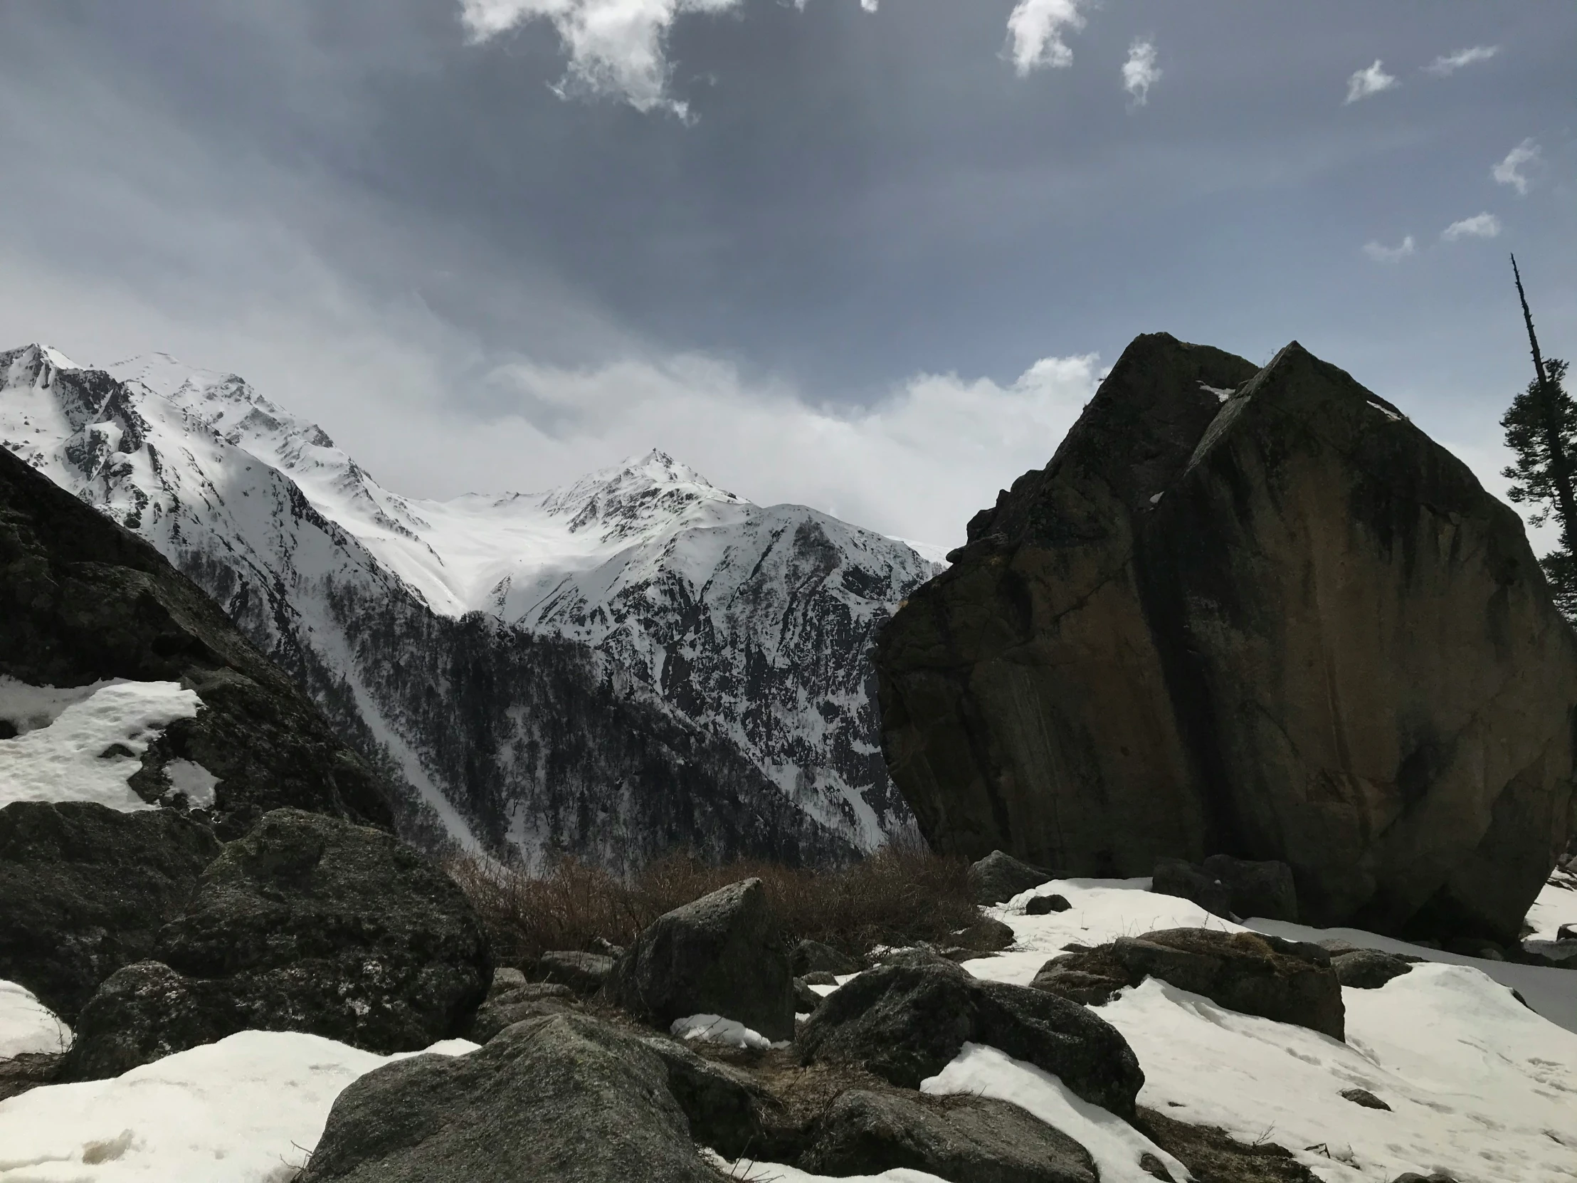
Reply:
M1566 393L1566 363L1539 353L1539 338L1533 331L1533 314L1522 290L1522 273L1517 270L1515 256L1511 259L1511 273L1517 281L1522 319L1528 327L1533 382L1511 401L1500 421L1506 429L1506 446L1517 457L1503 475L1512 481L1508 494L1512 502L1531 502L1539 506L1530 519L1534 525L1555 517L1560 544L1539 563L1556 606L1568 620L1577 620L1577 558L1574 558L1577 495L1572 491L1572 467L1577 462L1577 402Z

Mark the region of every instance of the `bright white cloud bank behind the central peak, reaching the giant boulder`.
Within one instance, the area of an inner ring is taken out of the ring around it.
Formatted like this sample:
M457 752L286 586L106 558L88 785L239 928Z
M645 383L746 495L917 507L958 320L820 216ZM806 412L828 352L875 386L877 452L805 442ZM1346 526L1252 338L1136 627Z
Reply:
M800 502L957 546L998 487L1050 461L1094 394L1098 358L1042 358L1006 385L919 374L856 410L752 388L702 356L576 371L514 363L494 382L568 416L557 438L527 451L579 456L587 470L658 446L757 503Z

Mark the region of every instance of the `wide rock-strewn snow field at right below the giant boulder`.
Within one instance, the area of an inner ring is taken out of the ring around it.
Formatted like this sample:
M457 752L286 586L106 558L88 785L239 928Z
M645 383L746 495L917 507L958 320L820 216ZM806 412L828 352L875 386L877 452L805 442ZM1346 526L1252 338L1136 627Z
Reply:
M1162 927L1244 929L1148 886L1146 879L1044 883L990 909L1012 926L1014 948L964 965L981 978L1027 984L1069 943L1101 945ZM1023 915L1030 896L1052 893L1072 909ZM1298 940L1340 937L1437 964L1378 991L1344 989L1345 1044L1227 1011L1154 978L1123 991L1098 1014L1139 1055L1140 1104L1221 1126L1244 1142L1282 1145L1333 1183L1437 1169L1462 1183L1577 1180L1577 973L1457 957L1356 929L1265 920L1247 926ZM1000 1063L987 1065L976 1052L971 1065L960 1055L938 1079L973 1077L975 1090L1017 1099L1011 1093L1025 1087L1027 1066L992 1055ZM1392 1112L1347 1101L1344 1088L1367 1088Z

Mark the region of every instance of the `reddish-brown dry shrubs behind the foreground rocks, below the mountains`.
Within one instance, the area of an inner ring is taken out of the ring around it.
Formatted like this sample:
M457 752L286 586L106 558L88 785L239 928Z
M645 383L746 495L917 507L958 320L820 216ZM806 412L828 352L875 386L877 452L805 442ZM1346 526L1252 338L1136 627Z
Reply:
M528 875L492 861L459 858L449 874L481 913L500 965L547 950L628 945L664 912L741 879L759 877L788 937L820 940L852 956L872 945L949 943L978 918L968 864L916 844L883 847L847 868L790 868L736 861L711 866L670 855L631 882L565 860Z

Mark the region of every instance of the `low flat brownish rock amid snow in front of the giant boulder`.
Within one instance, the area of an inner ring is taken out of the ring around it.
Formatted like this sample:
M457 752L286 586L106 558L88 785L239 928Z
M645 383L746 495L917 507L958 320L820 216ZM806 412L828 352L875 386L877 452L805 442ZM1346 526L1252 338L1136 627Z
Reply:
M1052 957L1033 986L1074 1002L1105 1002L1123 986L1161 978L1227 1009L1258 1014L1340 1039L1342 984L1318 945L1217 929L1162 929L1118 937L1088 953ZM1104 997L1094 997L1104 991Z

